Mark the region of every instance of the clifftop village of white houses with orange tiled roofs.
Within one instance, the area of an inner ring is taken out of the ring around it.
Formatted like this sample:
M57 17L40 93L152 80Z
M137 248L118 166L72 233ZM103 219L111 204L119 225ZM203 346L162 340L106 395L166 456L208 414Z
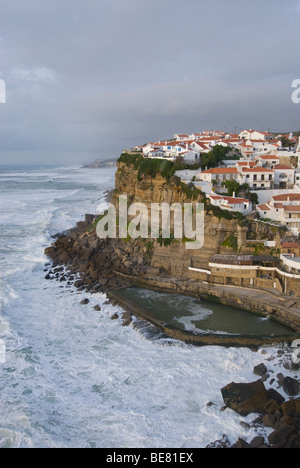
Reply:
M179 159L184 163L184 168L176 175L182 182L193 184L204 192L211 205L285 230L280 245L274 241L274 237L265 240L265 247L277 251L273 257L260 259L259 254L257 257L240 255L238 249L236 255L215 255L216 258L210 259L208 268L191 267L191 271L210 283L261 288L260 282L268 280L264 286L267 289L274 288L283 294L299 296L298 135L275 135L252 130L239 134L223 131L175 134L173 139L135 146L124 152L168 161ZM218 152L223 156L220 161L216 158L217 163L214 164L211 155L216 156Z

